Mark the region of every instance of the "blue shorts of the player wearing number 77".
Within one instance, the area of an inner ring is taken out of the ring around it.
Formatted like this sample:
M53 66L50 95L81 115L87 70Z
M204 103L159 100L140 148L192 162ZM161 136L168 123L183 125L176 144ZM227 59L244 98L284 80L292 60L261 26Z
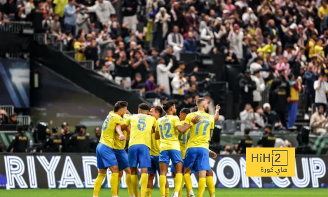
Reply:
M210 153L209 150L203 147L192 147L187 149L185 162L183 163L183 167L187 167L192 169L193 166L197 171L206 170L210 171Z

